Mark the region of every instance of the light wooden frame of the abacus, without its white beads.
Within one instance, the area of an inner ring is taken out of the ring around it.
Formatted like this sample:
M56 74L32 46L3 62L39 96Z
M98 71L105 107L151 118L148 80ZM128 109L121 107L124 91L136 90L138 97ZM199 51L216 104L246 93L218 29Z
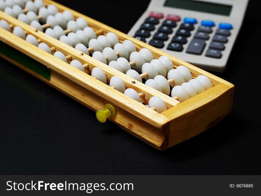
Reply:
M154 58L159 58L160 56L169 57L174 64L174 68L179 65L186 66L191 71L193 78L196 78L198 75L205 75L211 79L213 84L212 88L187 101L179 103L179 101L112 69L108 65L86 54L82 55L82 53L75 48L41 31L37 31L26 23L18 21L16 18L0 11L0 19L6 20L12 26L20 26L27 34L34 35L49 47L55 47L66 56L71 55L73 59L79 60L82 64L88 64L90 69L87 72L90 73L94 67L101 68L107 76L107 84L109 84L108 82L112 76L118 76L125 83L126 88L133 88L137 92L144 93L144 98L141 98L142 102L148 103L152 96L160 97L168 108L161 114L26 42L20 37L13 35L11 32L0 28L0 40L2 43L11 46L15 50L20 51L36 62L44 65L44 68L50 71L50 76L43 77L28 68L24 63L13 59L7 54L0 53L1 57L93 111L104 109L107 103L112 104L115 108L116 115L109 120L139 139L159 150L164 150L205 131L231 111L234 94L233 84L61 4L50 0L43 0L43 2L46 6L49 4L55 5L59 12L69 10L75 18L84 18L91 28L95 31L101 30L103 35L106 35L107 32L114 32L120 42L125 39L131 40L138 51L141 48L148 48Z

